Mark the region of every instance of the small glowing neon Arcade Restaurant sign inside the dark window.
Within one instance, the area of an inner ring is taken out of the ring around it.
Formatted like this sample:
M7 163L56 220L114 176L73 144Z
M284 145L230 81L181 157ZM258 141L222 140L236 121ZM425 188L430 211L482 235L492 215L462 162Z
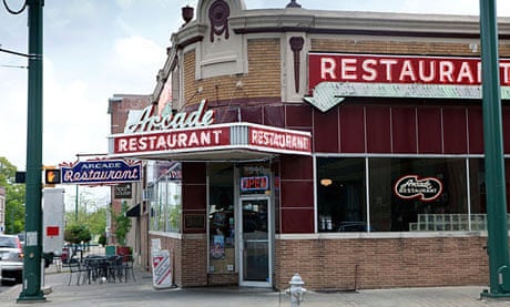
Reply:
M394 192L402 199L418 198L431 202L441 195L442 183L436 177L419 178L418 175L406 175L395 183Z

